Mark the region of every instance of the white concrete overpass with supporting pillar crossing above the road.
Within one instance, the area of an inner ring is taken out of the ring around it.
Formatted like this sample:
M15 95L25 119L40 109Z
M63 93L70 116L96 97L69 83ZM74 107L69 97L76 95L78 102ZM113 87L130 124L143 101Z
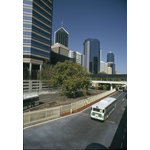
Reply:
M112 84L122 84L124 86L127 86L127 81L96 81L96 80L92 80L92 86L95 86L98 83L102 83L102 84L110 84L110 89L112 90Z

